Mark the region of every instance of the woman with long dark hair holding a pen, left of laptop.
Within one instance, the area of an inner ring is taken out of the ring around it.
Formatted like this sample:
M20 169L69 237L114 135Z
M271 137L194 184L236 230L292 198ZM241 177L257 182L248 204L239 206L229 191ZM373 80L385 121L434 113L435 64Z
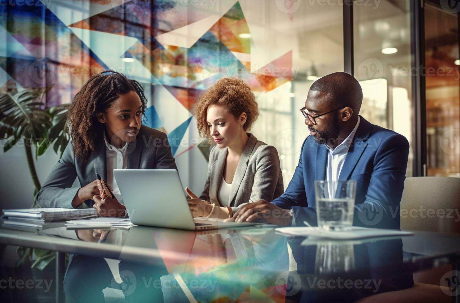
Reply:
M89 79L69 109L71 141L37 203L64 208L86 203L99 216L126 216L114 169L177 169L166 134L141 123L146 103L142 86L123 74L109 70ZM114 198L96 173L107 181ZM81 188L72 187L76 177Z

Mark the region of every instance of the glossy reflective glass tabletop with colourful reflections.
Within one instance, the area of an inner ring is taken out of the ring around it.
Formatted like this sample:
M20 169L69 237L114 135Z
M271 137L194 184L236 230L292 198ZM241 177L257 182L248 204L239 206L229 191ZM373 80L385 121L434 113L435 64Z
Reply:
M459 235L420 231L363 240L289 237L267 225L207 231L0 229L0 237L7 233L44 238L49 249L72 253L64 290L74 301L97 301L93 298L106 289L126 298L168 302L251 296L275 302L340 297L346 302L409 288L414 272L455 264L460 257ZM94 287L76 292L79 284Z

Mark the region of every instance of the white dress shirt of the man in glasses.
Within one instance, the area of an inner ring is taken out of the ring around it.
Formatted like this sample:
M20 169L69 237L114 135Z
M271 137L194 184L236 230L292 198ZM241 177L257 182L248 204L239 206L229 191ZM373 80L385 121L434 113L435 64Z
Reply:
M340 143L335 149L332 149L328 144L324 144L329 150L328 164L326 168L326 181L339 180L340 172L342 171L346 155L348 154L348 149L350 149L351 142L353 142L360 120L361 118L358 116L358 122L356 123L355 128L353 128L350 135L346 137L345 141Z

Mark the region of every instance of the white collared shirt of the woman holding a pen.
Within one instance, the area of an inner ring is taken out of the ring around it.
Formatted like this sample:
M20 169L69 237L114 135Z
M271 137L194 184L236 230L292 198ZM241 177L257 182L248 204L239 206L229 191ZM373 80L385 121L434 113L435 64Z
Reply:
M127 146L128 143L125 144L121 149L117 149L115 146L109 144L107 138L104 134L104 141L105 141L105 150L106 150L106 163L107 163L107 180L105 180L112 189L112 192L115 195L115 198L120 202L120 204L124 204L123 200L121 199L120 189L116 184L115 177L113 170L114 169L126 169L128 166L128 155L127 155Z

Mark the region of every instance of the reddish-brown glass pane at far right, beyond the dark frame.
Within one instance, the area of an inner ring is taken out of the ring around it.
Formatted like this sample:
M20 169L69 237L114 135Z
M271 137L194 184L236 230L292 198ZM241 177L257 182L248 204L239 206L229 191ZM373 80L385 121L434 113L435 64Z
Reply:
M428 176L460 177L458 30L455 14L425 6Z

